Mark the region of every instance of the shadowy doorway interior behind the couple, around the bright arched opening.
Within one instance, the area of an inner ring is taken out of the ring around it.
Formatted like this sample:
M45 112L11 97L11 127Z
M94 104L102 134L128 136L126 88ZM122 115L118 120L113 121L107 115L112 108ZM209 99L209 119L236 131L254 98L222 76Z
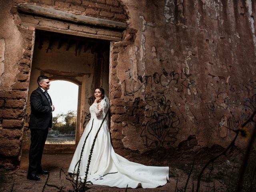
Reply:
M78 96L74 98L77 100L75 134L72 132L74 144L45 146L45 152L49 153L73 152L90 118L89 106L93 102L94 87L103 87L108 95L110 41L44 30L36 30L35 36L22 152L28 152L30 146L29 99L31 92L38 87L36 79L40 75L48 76L50 81L65 80L78 86ZM65 87L63 89L68 91ZM51 87L49 91L54 92Z

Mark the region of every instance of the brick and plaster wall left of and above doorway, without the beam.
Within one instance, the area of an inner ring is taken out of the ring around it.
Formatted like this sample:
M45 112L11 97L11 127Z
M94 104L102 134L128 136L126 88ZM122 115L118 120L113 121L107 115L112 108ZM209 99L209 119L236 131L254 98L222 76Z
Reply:
M28 121L25 110L35 29L106 40L122 38L122 31L112 32L108 27L19 13L17 8L22 4L118 22L126 22L127 18L118 0L0 0L0 166L5 168L14 168L20 163L23 124Z

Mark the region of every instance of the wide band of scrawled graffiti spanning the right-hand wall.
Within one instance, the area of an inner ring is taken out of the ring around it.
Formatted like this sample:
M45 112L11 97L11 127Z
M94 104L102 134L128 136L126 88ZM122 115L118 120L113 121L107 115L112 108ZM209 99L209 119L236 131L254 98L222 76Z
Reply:
M256 110L256 81L198 84L184 70L166 69L144 76L126 70L120 83L123 96L144 95L146 110L140 136L147 147L171 147L182 127L210 141L231 137L236 129ZM198 87L200 85L200 87ZM224 131L223 131L224 130Z

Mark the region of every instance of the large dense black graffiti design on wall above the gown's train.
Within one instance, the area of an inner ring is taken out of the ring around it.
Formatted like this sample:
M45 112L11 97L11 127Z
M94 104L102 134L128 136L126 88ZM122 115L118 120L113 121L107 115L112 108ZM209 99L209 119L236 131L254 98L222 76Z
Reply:
M147 147L155 145L168 148L176 141L180 120L170 104L164 95L147 98L146 118L140 134Z

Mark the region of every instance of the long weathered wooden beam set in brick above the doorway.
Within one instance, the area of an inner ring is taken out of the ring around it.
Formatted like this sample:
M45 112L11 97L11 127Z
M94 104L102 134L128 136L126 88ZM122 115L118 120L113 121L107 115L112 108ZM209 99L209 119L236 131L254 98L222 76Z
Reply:
M83 16L83 15L75 15L75 14L67 13L64 11L56 10L53 8L46 8L46 7L41 7L37 5L22 4L18 6L17 9L18 9L18 12L22 12L22 13L41 15L41 16L46 16L50 18L56 18L60 20L66 20L66 21L82 23L82 24L104 26L104 27L117 28L117 29L123 29L123 30L126 29L127 27L126 23L122 23L122 22L101 19L101 18L94 18L89 16Z

